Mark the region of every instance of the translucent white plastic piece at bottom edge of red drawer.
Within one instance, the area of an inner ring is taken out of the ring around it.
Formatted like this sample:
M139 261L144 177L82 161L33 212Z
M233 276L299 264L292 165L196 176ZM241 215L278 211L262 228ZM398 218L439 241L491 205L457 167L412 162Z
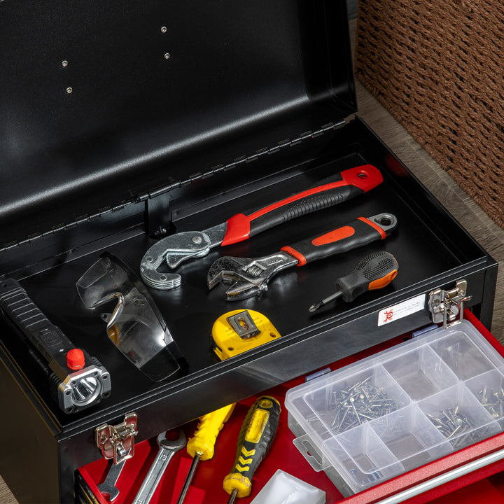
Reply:
M325 504L325 491L279 469L251 504Z

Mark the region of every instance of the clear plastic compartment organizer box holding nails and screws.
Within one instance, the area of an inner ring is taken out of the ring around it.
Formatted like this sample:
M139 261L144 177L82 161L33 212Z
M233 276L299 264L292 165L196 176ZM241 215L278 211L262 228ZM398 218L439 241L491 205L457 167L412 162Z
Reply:
M288 425L349 496L503 430L503 372L462 321L291 388Z

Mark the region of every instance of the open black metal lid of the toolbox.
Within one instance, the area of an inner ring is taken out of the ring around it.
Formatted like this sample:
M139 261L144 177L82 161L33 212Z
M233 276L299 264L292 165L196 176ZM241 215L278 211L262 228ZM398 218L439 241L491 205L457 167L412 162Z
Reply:
M1 2L0 31L0 248L356 108L343 1Z

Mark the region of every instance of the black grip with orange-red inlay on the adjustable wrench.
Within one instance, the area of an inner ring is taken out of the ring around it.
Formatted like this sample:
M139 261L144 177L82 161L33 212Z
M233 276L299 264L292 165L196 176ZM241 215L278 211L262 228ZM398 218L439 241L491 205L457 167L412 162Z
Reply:
M341 228L298 241L290 246L284 246L281 250L293 255L298 261L297 266L303 266L307 262L344 253L372 241L385 239L386 236L386 232L379 225L365 217L359 217Z

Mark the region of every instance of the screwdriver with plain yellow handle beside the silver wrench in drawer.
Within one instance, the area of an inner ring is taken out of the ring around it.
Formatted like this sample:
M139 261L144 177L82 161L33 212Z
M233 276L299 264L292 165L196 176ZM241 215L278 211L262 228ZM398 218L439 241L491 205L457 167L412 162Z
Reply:
M226 423L231 416L233 409L235 409L235 402L200 417L200 423L197 425L194 437L188 440L187 451L188 454L193 457L193 463L191 463L189 468L177 504L182 504L183 500L186 498L186 493L189 489L190 482L193 480L198 462L200 460L209 460L214 456L217 436L221 432L224 423Z

